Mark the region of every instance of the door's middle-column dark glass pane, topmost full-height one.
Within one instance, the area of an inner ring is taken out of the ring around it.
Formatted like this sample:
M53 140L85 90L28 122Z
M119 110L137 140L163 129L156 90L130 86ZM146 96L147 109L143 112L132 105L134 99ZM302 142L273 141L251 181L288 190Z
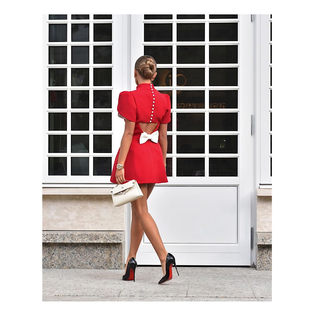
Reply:
M178 23L177 41L204 41L205 23Z

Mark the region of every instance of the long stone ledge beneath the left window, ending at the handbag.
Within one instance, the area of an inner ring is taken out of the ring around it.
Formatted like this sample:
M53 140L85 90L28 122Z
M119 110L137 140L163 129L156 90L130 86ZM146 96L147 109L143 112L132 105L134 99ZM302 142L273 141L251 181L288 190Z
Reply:
M112 187L43 187L42 195L111 195Z

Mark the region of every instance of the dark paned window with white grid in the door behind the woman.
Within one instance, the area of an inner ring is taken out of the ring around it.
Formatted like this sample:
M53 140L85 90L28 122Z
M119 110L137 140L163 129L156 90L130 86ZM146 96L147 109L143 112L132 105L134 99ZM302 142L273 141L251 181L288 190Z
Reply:
M238 16L155 14L142 23L143 54L157 62L154 86L171 97L169 182L238 179Z

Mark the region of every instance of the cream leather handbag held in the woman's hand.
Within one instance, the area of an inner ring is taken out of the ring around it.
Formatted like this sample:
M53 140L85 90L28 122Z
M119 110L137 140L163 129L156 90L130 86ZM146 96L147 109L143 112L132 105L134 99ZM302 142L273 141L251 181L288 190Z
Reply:
M122 206L143 196L136 180L130 180L124 184L117 184L111 189L111 193L114 206Z

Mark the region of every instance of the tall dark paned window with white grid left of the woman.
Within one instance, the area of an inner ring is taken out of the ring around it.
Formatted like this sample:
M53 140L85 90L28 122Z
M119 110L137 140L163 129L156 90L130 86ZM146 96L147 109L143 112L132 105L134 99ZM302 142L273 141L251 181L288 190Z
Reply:
M43 183L110 182L121 27L111 14L43 16Z

